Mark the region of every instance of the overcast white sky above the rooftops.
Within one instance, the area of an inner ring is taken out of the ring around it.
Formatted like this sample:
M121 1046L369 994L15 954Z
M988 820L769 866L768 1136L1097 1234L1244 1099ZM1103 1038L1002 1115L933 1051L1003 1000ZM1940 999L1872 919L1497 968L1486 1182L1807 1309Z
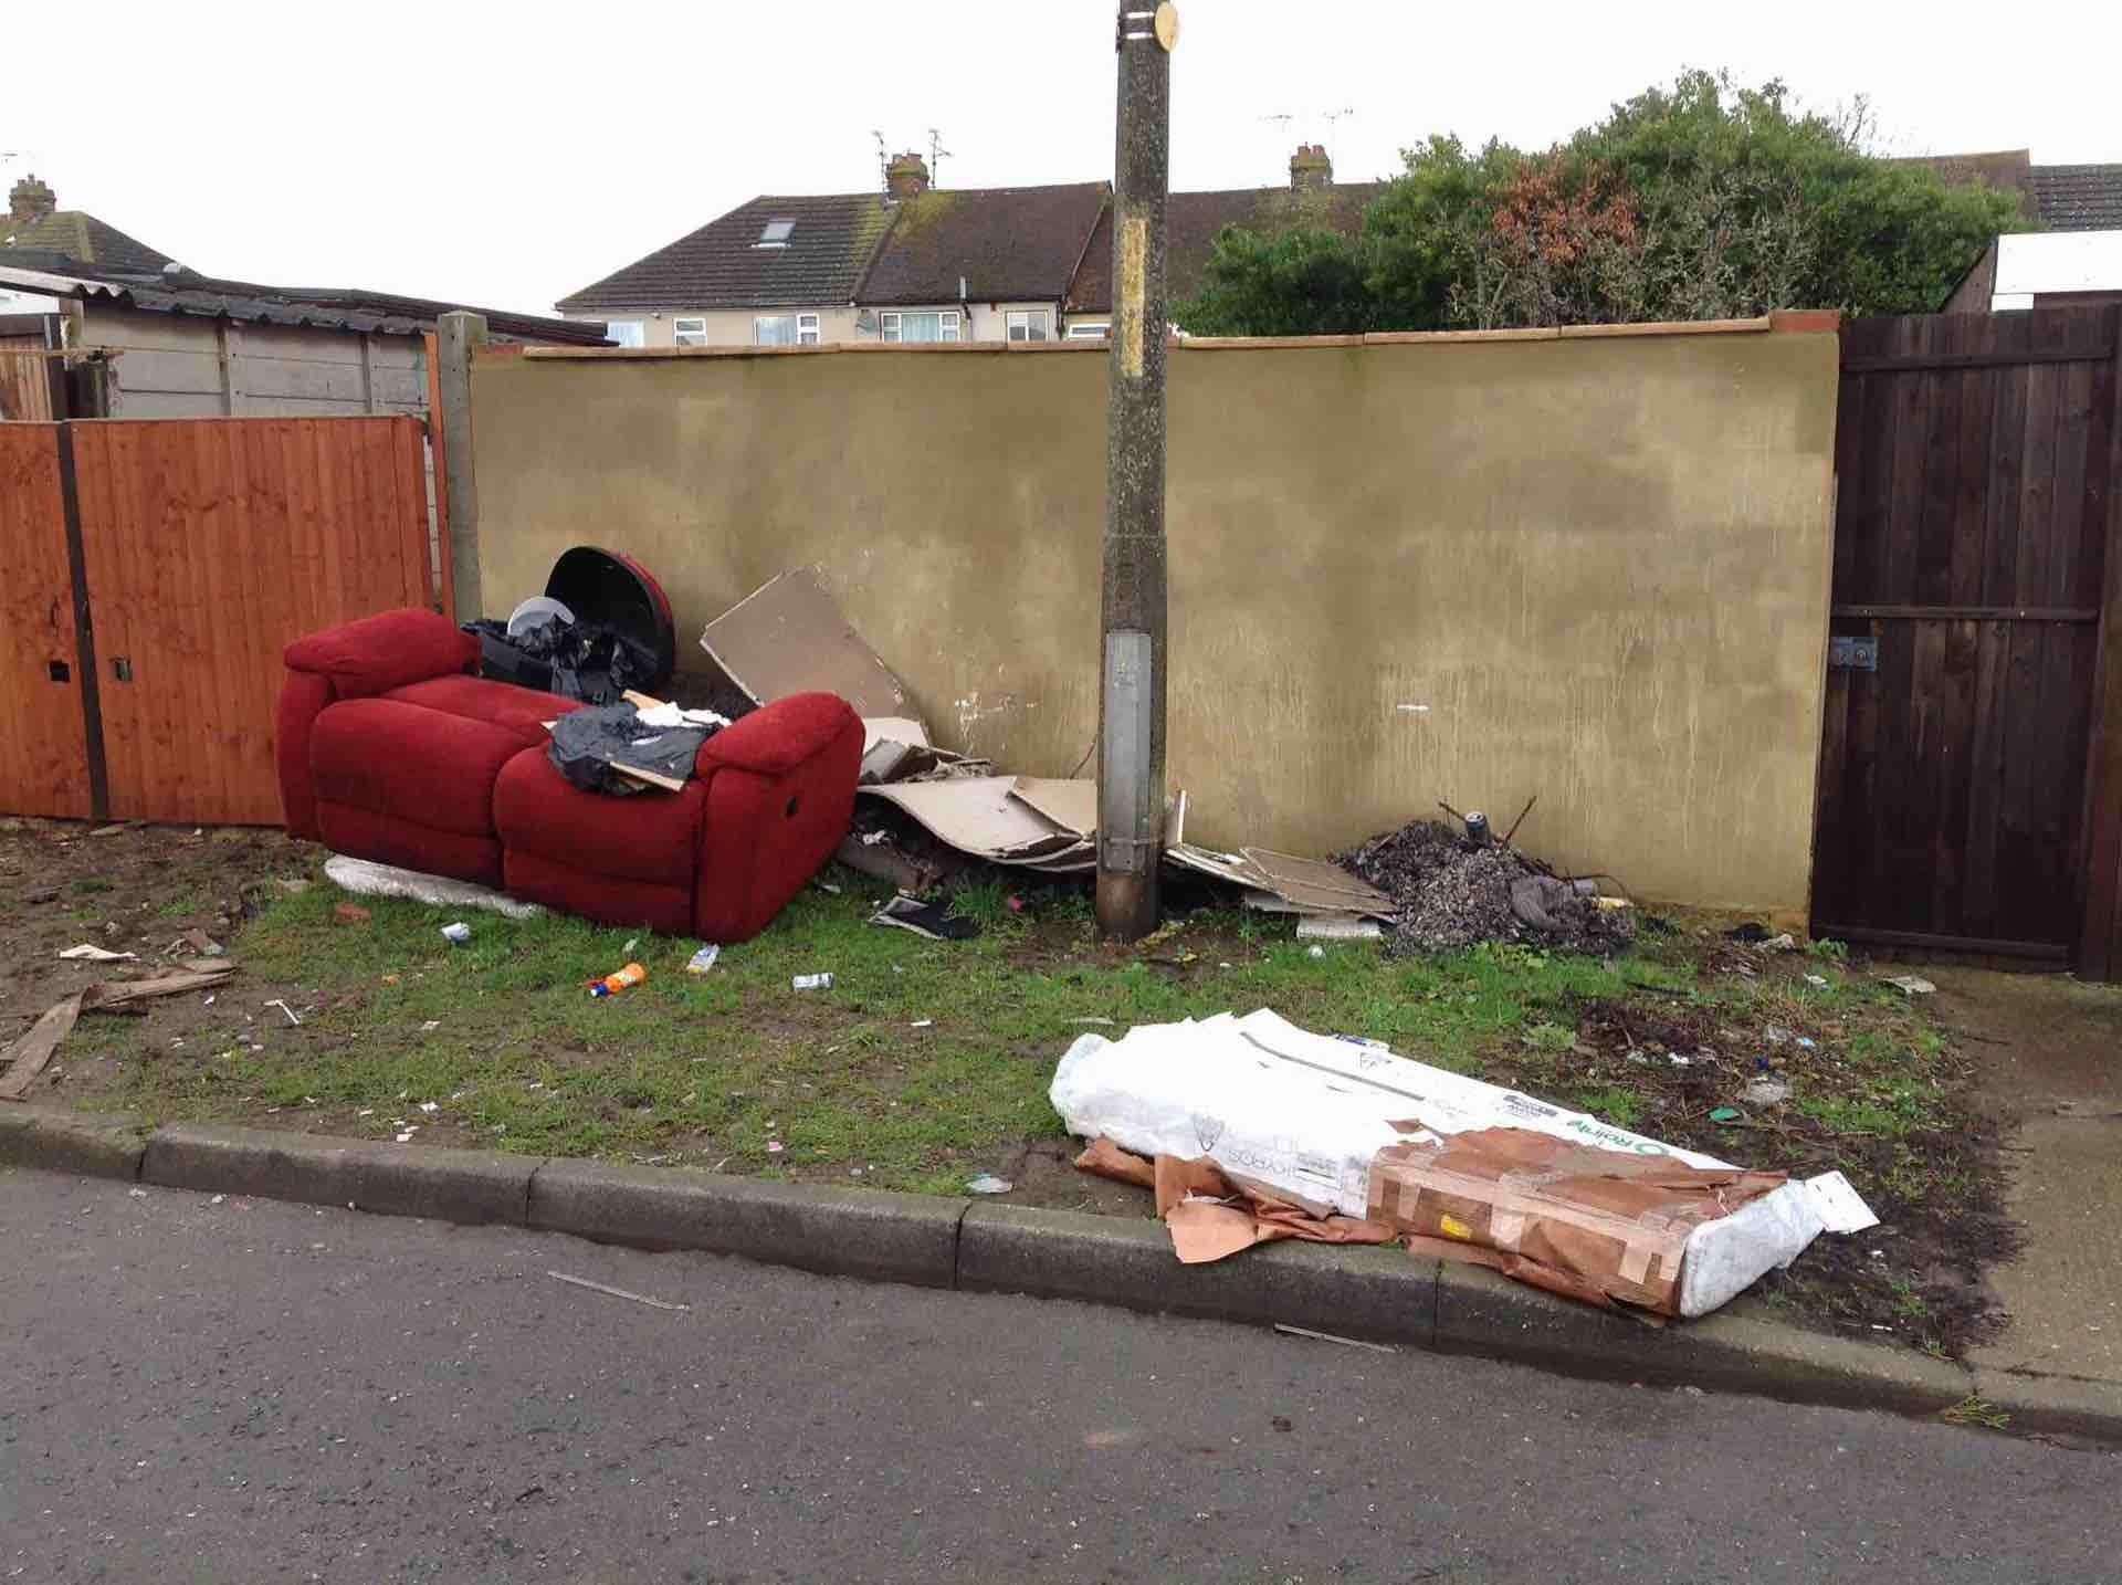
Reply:
M1148 0L1144 0L1146 4ZM1110 0L248 4L0 21L0 185L25 170L208 274L550 312L753 193L1112 174ZM1171 185L1398 168L1430 134L1545 146L1687 66L1869 93L1895 153L2122 161L2122 6L1180 0ZM32 66L36 62L36 66ZM1335 123L1326 112L1350 110ZM1277 117L1292 117L1282 121Z

